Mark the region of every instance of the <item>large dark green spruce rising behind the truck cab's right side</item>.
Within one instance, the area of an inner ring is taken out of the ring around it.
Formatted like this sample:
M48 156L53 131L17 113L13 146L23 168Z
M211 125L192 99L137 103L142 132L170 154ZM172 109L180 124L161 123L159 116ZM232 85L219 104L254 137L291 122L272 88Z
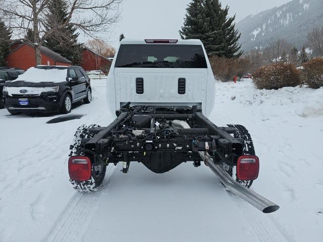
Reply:
M186 10L184 26L179 31L182 39L200 39L209 56L242 55L236 16L228 17L228 6L223 9L219 0L193 0Z

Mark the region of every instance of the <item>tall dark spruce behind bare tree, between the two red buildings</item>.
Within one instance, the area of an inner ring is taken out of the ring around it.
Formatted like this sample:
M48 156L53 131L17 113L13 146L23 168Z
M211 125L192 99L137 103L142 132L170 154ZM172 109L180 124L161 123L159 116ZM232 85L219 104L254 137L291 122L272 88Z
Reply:
M66 0L49 0L47 8L46 32L49 34L44 45L69 59L73 65L80 65L82 45L77 42L77 29L67 24L62 29L52 31L55 26L62 25L68 17Z

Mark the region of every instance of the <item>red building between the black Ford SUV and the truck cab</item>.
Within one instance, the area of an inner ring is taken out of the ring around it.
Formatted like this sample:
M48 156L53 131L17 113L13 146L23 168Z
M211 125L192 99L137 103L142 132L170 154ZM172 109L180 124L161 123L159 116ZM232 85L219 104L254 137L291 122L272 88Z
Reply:
M112 61L93 50L85 47L82 50L82 64L81 67L85 71L101 70L103 72L109 72Z

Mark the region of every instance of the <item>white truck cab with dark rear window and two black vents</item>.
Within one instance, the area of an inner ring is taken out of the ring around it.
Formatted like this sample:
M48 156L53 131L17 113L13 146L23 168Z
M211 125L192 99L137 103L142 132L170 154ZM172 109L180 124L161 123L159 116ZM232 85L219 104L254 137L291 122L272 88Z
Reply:
M200 40L123 39L115 56L107 77L111 112L131 102L211 113L215 81Z

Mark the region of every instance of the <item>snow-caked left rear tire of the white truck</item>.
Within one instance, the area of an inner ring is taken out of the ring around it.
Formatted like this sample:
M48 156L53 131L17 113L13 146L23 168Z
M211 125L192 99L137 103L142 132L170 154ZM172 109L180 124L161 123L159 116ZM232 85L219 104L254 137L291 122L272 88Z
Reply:
M70 155L69 156L76 156L76 155L84 155L81 152L81 140L83 138L92 138L93 135L89 134L89 129L97 128L97 125L82 125L76 130L74 135L74 142L73 145L70 146ZM106 165L100 164L97 166L92 166L91 172L91 179L85 181L76 181L70 179L70 182L73 188L80 192L95 192L101 186L106 171Z

